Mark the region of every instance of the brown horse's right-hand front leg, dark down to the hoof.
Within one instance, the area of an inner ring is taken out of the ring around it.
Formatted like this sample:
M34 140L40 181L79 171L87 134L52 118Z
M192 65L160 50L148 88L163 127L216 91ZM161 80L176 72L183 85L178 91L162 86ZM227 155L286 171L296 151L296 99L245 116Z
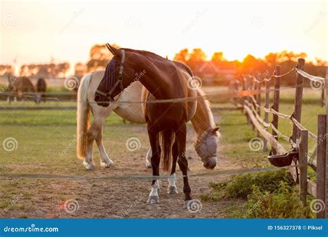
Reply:
M178 164L183 174L183 193L185 193L185 207L188 200L191 198L191 189L188 182L188 161L185 158L185 142L187 137L187 126L184 124L178 131L176 131L176 140L178 143L179 159Z

